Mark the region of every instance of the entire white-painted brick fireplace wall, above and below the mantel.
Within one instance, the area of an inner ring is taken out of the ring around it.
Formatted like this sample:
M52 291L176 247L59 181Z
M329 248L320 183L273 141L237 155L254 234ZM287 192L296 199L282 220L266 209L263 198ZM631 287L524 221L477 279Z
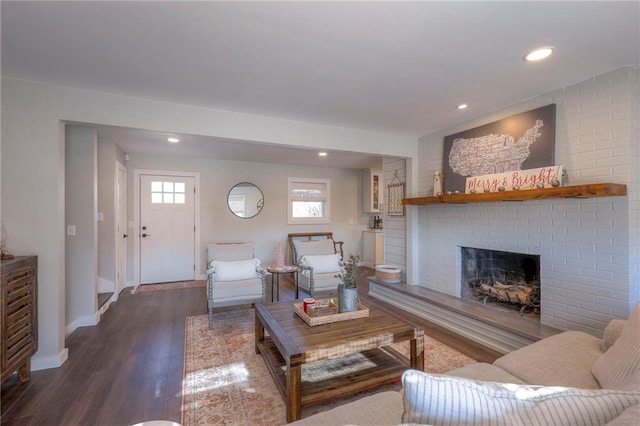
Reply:
M555 162L569 184L627 184L627 197L530 200L419 209L419 285L459 295L458 247L541 256L541 321L601 335L640 300L639 72L623 68L420 140L418 194L433 191L443 138L556 104Z

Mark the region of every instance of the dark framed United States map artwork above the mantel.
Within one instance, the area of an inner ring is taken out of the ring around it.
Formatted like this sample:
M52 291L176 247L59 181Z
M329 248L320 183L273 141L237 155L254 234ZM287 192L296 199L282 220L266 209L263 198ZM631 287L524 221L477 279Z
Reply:
M550 104L444 138L444 191L465 191L470 176L554 164L556 105Z

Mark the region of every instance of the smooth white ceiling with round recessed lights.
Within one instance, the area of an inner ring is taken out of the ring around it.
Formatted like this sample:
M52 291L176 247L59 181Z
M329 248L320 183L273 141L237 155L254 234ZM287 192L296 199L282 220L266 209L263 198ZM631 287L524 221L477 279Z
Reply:
M4 76L416 138L640 56L638 1L0 6ZM543 45L557 49L550 60L521 60ZM469 109L457 111L461 102ZM157 143L164 134L121 130L100 128L101 137L130 152L301 164L311 154L188 135L167 147Z

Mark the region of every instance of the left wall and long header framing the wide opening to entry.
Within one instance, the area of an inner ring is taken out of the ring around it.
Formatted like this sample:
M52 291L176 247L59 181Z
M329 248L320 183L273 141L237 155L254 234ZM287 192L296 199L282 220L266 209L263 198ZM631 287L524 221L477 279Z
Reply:
M39 350L32 360L34 369L55 367L66 359L61 121L215 136L238 143L417 155L417 141L409 137L2 78L2 225L10 251L36 254L39 261Z

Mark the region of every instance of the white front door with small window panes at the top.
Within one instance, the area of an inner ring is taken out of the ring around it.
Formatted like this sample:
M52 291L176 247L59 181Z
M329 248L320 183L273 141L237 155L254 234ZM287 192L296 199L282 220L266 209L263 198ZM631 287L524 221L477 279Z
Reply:
M140 284L195 279L194 178L140 175Z

